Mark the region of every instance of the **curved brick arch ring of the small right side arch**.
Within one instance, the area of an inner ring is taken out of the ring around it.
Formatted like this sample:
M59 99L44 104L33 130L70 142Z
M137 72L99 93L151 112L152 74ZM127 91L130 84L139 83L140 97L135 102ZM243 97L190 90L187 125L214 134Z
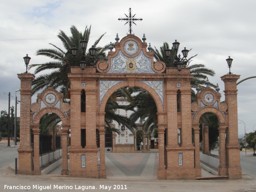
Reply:
M193 123L198 123L199 118L206 112L214 113L218 117L219 123L226 122L224 114L219 109L217 109L215 107L203 107L196 112Z

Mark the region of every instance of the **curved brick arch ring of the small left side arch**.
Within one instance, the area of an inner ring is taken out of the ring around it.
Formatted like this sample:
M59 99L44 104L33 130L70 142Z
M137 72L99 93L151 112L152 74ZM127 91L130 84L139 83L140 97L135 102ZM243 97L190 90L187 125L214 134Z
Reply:
M68 124L67 116L60 109L53 107L46 107L38 111L34 117L33 124L39 124L42 116L47 113L55 113L60 117L62 124Z

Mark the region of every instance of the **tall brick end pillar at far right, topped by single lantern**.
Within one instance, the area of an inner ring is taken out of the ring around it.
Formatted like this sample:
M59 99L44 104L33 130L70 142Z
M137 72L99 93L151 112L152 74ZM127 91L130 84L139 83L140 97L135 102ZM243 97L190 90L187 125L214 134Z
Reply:
M227 133L227 169L230 179L241 179L242 170L240 166L240 145L238 143L238 124L237 124L237 88L236 81L240 75L228 74L221 77L225 84L225 102L228 104L226 121L228 122Z

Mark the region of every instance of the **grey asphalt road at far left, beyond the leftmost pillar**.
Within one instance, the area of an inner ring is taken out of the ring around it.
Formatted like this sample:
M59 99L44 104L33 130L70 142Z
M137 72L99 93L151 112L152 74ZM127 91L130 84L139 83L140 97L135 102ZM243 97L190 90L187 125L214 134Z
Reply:
M13 141L11 141L10 145L13 144ZM17 145L20 145L20 142L17 142ZM18 147L7 147L7 142L0 141L0 169L15 163L15 158L18 157L17 148Z

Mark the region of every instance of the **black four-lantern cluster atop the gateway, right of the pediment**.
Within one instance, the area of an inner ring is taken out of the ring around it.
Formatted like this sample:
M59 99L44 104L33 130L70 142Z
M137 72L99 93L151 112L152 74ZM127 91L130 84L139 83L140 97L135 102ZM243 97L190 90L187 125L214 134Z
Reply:
M187 50L186 47L184 47L184 49L181 51L182 54L183 54L183 57L181 58L180 54L177 56L180 43L177 42L177 40L175 40L175 42L172 43L172 46L173 46L173 49L175 51L174 58L172 58L172 56L171 56L172 50L169 49L169 47L167 47L167 49L164 50L166 56L168 57L168 59L166 60L166 63L167 63L166 66L168 66L168 67L172 67L172 66L177 67L178 71L181 71L182 67L188 67L188 64L190 62L187 59L189 50Z

